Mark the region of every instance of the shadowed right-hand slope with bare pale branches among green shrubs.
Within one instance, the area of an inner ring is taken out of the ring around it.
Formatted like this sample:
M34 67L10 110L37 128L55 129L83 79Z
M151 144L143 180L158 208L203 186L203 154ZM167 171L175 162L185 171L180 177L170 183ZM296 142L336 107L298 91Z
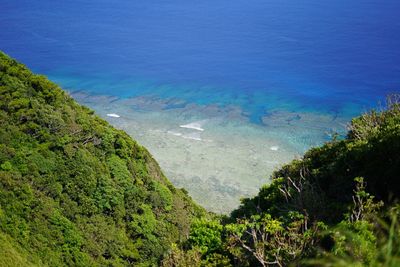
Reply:
M400 266L400 102L283 166L227 218L196 220L164 266Z

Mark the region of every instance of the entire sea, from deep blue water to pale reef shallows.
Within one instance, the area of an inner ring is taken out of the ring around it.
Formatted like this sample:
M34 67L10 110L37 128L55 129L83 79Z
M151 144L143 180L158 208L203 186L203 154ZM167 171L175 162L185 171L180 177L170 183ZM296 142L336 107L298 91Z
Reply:
M400 1L0 0L0 50L228 213L400 92Z

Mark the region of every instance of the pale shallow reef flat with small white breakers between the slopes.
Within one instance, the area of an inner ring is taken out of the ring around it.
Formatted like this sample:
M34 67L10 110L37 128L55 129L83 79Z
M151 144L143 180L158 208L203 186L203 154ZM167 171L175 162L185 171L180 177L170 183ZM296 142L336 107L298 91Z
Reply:
M223 213L237 207L240 198L256 194L276 168L346 124L332 115L282 109L255 124L234 105L85 92L72 96L145 145L176 186L207 209Z

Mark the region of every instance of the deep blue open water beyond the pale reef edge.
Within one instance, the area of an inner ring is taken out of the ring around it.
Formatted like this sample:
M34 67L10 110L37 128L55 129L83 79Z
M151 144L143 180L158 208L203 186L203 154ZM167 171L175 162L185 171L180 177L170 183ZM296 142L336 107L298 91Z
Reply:
M0 49L70 90L353 116L400 90L400 1L0 0Z

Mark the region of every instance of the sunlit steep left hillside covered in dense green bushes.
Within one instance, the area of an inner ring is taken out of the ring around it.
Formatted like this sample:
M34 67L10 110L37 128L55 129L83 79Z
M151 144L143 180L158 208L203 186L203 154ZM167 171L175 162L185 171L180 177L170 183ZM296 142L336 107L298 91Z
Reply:
M1 52L0 125L4 264L157 265L204 214L125 132Z

